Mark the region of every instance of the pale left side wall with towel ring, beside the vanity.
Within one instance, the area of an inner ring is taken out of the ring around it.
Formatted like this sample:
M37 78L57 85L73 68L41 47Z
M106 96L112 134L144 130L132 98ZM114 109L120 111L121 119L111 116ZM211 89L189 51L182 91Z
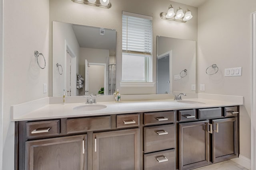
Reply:
M3 19L3 170L14 169L14 122L10 106L44 98L48 84L49 0L4 0ZM36 63L43 53L46 68ZM52 84L50 85L52 86Z

